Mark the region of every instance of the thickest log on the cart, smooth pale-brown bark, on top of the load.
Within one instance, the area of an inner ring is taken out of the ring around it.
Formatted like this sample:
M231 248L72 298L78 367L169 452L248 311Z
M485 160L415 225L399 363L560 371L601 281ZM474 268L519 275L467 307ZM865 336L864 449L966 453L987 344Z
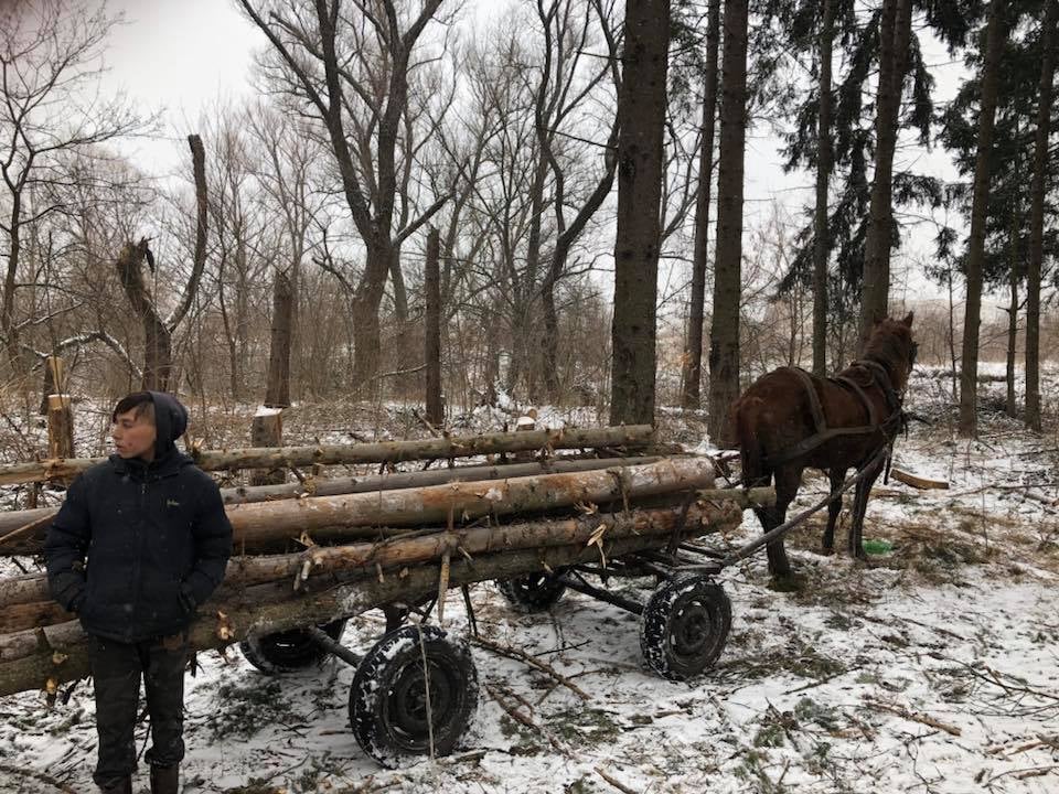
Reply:
M440 524L450 512L463 522L693 491L712 485L714 476L707 459L663 459L587 472L232 505L227 515L235 550L261 552L282 547L303 533L310 533L317 543L334 541L377 535L377 527ZM7 555L36 554L45 534L46 524L33 533L7 536L9 540L0 538L0 549Z

